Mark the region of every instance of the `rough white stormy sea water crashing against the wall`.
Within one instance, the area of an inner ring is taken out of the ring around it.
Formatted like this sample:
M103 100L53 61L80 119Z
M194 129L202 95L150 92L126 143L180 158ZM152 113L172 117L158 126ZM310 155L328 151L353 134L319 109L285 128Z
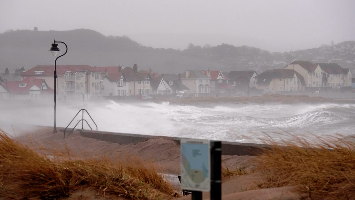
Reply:
M57 126L66 127L78 110L87 109L100 131L209 140L261 143L293 135L353 134L352 104L208 104L107 101L82 106L59 104ZM53 126L50 105L11 108L1 122ZM6 109L5 109L6 110ZM16 111L17 110L17 111ZM6 111L5 111L6 112ZM21 114L19 114L21 113ZM80 120L78 117L71 127ZM80 126L81 127L81 126ZM84 128L88 128L84 125Z

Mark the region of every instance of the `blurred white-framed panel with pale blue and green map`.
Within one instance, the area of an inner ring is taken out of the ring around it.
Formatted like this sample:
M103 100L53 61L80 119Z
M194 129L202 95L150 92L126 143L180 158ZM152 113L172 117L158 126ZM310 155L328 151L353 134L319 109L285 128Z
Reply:
M210 147L208 140L181 139L181 189L210 190Z

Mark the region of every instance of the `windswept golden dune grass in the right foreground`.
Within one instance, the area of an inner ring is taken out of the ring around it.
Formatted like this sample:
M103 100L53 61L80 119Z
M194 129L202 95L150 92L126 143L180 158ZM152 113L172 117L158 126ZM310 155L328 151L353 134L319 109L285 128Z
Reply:
M312 199L355 199L355 143L294 137L286 147L272 145L260 156L267 181L261 187L297 186Z

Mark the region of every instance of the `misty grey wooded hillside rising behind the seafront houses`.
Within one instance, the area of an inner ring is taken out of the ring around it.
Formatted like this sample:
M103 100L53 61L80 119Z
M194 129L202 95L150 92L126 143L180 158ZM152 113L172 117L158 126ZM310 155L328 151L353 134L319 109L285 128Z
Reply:
M53 43L63 41L68 53L57 60L57 64L91 66L131 66L137 63L140 69L159 73L179 73L184 70L221 69L256 70L283 68L293 60L309 60L313 63L335 62L344 68L355 69L355 41L347 41L334 46L293 52L268 52L255 47L235 47L221 44L215 47L194 46L187 49L163 49L146 47L126 36L104 36L88 29L71 31L7 31L0 34L0 72L5 68L13 73L15 68L30 69L35 65L54 64L55 58L48 51ZM173 40L173 38L172 38ZM64 44L58 47L62 53Z

